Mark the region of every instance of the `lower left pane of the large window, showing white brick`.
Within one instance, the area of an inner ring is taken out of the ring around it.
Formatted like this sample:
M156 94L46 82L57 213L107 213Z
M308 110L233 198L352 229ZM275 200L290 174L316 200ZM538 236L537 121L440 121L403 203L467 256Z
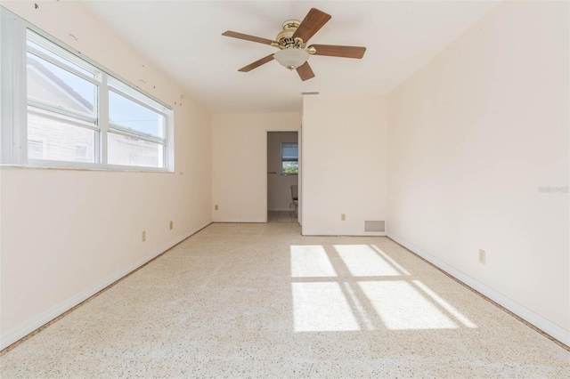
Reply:
M28 158L95 161L95 132L28 111Z

